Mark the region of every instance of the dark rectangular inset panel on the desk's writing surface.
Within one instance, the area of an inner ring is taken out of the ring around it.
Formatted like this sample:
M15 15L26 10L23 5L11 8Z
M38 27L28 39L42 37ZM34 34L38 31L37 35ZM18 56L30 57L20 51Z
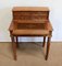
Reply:
M45 29L45 24L41 24L41 23L22 23L22 24L17 24L16 25L17 29Z

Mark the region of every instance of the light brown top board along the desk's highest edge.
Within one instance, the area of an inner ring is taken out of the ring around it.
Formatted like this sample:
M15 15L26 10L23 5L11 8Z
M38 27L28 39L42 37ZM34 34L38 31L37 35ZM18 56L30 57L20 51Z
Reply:
M48 7L14 7L12 11L49 11Z

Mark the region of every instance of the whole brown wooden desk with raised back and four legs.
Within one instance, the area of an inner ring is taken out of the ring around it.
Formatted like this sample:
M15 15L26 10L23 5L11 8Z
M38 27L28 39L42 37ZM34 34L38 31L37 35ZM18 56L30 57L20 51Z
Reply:
M9 31L12 40L13 55L16 59L16 45L18 36L44 36L44 44L47 41L46 61L48 59L52 26L49 21L49 9L47 7L14 7L12 10L12 22ZM16 43L14 43L14 36Z

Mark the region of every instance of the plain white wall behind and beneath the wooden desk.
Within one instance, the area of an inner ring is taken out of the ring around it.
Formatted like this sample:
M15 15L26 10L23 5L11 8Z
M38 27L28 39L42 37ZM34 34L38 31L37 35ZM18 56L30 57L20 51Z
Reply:
M10 42L9 25L12 20L12 8L49 7L49 19L53 26L52 42L62 41L62 0L0 0L0 42ZM21 37L20 41L40 42L41 37Z

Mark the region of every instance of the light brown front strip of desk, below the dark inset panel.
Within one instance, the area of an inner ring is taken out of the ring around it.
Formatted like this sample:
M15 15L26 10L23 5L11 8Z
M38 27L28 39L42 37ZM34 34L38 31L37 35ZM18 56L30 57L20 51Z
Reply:
M13 35L48 35L47 30L14 30Z

